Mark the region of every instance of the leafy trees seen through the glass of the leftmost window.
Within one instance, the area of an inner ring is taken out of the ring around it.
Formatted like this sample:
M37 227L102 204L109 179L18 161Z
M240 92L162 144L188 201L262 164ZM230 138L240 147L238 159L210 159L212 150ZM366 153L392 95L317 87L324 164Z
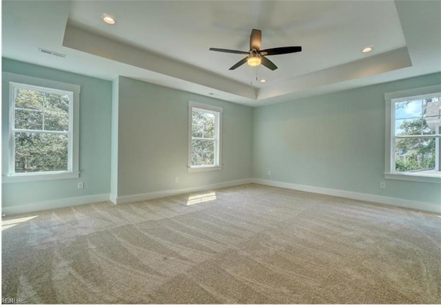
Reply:
M14 87L14 172L68 170L72 94Z

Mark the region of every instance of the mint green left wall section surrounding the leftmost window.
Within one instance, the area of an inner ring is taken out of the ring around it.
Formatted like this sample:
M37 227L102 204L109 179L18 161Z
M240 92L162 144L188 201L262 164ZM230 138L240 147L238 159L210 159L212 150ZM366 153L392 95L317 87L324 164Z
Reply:
M79 179L2 183L3 207L94 194L109 194L112 82L7 58L2 58L2 70L81 86L79 151L81 176ZM8 87L3 87L1 115L2 120L9 115ZM2 128L7 128L7 126L2 124ZM7 140L2 139L3 142ZM6 153L2 150L3 156ZM5 168L3 168L3 172L4 170ZM77 188L79 181L84 182L82 190Z

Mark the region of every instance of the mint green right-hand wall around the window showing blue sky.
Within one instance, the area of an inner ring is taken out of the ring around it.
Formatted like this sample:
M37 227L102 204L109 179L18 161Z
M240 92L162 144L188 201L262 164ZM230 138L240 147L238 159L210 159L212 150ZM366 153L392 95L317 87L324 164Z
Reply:
M384 93L440 82L431 74L254 109L253 177L441 205L440 184L383 175Z

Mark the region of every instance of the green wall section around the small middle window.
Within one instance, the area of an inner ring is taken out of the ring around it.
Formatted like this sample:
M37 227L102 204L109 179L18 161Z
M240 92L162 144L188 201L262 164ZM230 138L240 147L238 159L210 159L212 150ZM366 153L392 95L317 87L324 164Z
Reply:
M223 169L188 172L188 102L223 107ZM119 78L118 196L251 178L252 108ZM175 177L179 182L175 183Z

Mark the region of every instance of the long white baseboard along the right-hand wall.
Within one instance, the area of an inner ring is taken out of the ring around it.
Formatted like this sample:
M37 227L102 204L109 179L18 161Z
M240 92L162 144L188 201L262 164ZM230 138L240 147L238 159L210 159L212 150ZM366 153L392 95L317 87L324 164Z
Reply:
M252 179L252 182L257 183L257 184L262 184L262 185L276 186L278 188L288 188L290 190L300 190L303 192L325 194L325 195L329 195L329 196L338 196L338 197L356 199L356 200L361 200L361 201L382 203L385 205L395 205L398 207L408 207L411 209L422 210L422 211L427 211L427 212L441 213L441 204L435 205L435 204L424 203L424 202L420 202L420 201L410 201L410 200L406 200L406 199L398 199L398 198L393 198L393 197L363 194L363 193L358 193L358 192L349 192L349 191L345 191L345 190L335 190L332 188L320 188L317 186L294 184L294 183L287 183L287 182L280 182L280 181L271 181L271 180L265 180L265 179Z

